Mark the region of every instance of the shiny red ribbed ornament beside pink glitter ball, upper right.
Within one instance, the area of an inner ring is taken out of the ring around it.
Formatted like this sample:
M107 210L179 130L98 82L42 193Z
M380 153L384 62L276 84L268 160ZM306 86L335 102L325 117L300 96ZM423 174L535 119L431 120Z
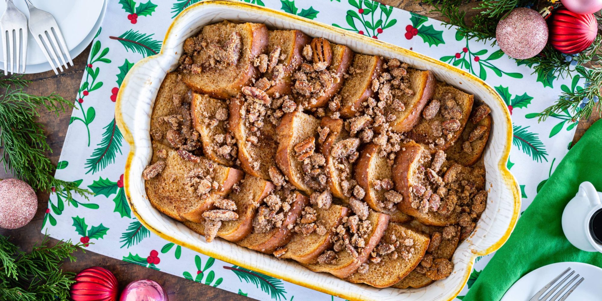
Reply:
M550 45L564 54L577 54L592 45L598 33L594 14L576 14L557 8L548 19Z

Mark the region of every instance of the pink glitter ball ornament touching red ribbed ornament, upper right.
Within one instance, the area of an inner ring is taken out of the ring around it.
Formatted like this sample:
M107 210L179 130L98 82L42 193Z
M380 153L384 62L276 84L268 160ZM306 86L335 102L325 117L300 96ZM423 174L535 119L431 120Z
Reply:
M501 51L524 60L535 57L548 42L548 26L537 11L519 7L497 23L495 39Z

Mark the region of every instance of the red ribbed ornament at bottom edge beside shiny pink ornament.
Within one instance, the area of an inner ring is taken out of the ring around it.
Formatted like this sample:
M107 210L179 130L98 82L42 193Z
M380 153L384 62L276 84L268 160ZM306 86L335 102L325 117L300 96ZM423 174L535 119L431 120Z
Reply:
M89 267L75 276L71 286L74 301L116 301L117 279L111 271L102 267Z

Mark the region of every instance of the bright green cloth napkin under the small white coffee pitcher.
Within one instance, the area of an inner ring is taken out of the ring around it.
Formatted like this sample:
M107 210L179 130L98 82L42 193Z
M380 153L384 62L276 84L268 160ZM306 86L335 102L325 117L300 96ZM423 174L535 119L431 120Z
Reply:
M562 232L560 217L579 184L602 191L602 120L566 154L541 188L508 241L480 273L464 301L500 300L524 275L554 262L579 261L602 267L602 254L577 249ZM582 221L576 221L582 222Z

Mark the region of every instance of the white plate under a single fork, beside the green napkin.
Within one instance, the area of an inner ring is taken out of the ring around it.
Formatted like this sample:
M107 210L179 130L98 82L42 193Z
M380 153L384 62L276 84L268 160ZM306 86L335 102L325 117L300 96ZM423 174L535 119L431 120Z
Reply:
M566 268L575 271L571 279L579 274L585 278L566 301L600 300L602 298L602 268L583 262L556 262L533 270L531 273L518 279L518 281L506 291L500 301L528 301L554 277L560 275ZM579 281L579 279L577 279Z

